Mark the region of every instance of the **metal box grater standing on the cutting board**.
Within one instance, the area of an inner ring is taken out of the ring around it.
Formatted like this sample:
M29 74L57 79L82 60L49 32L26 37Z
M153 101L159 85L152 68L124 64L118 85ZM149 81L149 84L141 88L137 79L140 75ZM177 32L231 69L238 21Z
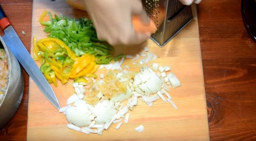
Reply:
M151 39L160 47L167 44L192 19L191 6L179 0L142 0L145 11L157 26Z

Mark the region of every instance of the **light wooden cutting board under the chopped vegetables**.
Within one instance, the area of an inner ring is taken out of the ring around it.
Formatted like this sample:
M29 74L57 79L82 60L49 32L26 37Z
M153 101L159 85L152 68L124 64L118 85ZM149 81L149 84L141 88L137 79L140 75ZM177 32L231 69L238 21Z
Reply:
M32 16L32 37L45 38L43 27L39 23L39 17L44 10L52 14L64 14L70 17L80 18L88 16L86 12L75 10L65 0L34 0ZM63 113L45 98L32 79L29 82L28 127L27 140L209 140L207 119L207 107L203 81L202 60L198 32L196 6L193 5L194 19L167 45L160 48L153 41L147 41L147 47L157 54L159 65L171 66L171 72L180 79L182 86L171 89L173 102L178 109L175 110L169 103L163 103L161 99L155 101L152 107L140 102L130 112L130 119L119 130L112 125L103 135L73 131L66 127ZM31 45L32 47L32 45ZM115 53L136 54L139 47L116 48ZM139 67L132 65L131 59L124 64L132 70ZM97 74L104 72L99 70ZM65 85L58 82L58 87L53 85L60 106L66 106L66 100L74 93L72 81ZM134 130L143 124L145 130L141 133Z

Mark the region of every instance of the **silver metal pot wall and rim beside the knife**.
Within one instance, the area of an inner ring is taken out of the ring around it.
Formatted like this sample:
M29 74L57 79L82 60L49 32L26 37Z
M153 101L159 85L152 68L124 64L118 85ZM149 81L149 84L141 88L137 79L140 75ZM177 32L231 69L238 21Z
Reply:
M24 78L17 59L9 48L6 47L1 36L0 42L6 52L9 69L4 97L2 102L0 101L0 128L2 128L12 119L19 107L24 91Z

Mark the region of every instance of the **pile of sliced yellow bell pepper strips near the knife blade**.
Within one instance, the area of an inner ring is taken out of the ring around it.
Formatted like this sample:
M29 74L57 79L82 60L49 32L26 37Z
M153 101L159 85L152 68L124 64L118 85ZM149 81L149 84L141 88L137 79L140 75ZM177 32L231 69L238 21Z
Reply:
M67 83L69 78L74 78L75 82L86 83L87 80L83 76L97 77L93 73L99 65L96 65L93 54L85 53L81 57L76 57L64 42L56 38L44 38L40 41L33 38L33 45L35 60L45 61L48 64L47 71L43 73L47 81L53 83L55 87L57 87L57 79L62 84Z

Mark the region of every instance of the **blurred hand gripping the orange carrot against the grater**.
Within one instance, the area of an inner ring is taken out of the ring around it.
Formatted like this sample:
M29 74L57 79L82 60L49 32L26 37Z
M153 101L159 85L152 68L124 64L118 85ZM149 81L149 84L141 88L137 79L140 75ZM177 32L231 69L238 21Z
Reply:
M111 45L141 44L150 36L150 31L137 33L132 17L138 15L145 24L150 24L141 0L83 0L99 40Z

